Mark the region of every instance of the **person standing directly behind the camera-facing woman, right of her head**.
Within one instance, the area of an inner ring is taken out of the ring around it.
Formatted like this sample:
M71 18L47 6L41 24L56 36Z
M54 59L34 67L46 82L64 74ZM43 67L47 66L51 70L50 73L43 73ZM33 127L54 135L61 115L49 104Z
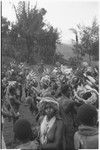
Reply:
M63 85L61 87L62 96L57 99L61 108L61 116L64 120L66 127L66 143L67 149L74 149L74 133L76 128L75 115L76 111L74 109L74 101L70 98L70 87L68 85Z

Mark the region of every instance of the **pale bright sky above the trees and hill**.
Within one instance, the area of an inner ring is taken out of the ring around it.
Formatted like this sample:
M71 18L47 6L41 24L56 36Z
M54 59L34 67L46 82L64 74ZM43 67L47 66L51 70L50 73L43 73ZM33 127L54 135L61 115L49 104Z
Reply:
M15 21L16 15L12 2L17 6L19 0L3 0L2 16L9 21ZM29 0L31 5L37 3L37 8L45 8L47 13L44 17L46 23L58 28L61 33L61 42L71 44L75 38L70 28L76 28L78 24L91 26L94 17L99 19L98 0Z

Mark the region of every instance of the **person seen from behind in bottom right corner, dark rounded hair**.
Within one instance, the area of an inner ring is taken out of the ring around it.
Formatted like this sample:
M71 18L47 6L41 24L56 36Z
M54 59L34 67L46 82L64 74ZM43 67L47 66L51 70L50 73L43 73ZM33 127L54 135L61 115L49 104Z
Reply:
M78 131L74 135L74 147L98 149L97 110L93 105L83 104L77 112Z

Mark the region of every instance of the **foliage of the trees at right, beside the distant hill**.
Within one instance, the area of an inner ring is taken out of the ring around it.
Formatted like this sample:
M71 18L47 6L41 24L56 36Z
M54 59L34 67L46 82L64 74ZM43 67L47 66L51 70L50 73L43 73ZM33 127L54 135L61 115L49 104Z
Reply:
M92 26L77 25L76 29L70 29L76 35L76 41L73 44L73 50L77 57L89 55L89 59L98 60L99 54L99 26L96 18Z

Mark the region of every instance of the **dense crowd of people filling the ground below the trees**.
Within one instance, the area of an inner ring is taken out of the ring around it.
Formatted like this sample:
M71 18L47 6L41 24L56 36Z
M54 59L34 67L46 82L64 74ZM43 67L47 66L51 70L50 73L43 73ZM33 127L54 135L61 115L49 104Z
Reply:
M59 62L41 63L38 74L21 69L2 78L2 131L4 119L13 120L13 142L18 149L98 149L99 69L87 62L76 70ZM8 77L9 76L9 77ZM16 76L16 77L15 77ZM21 118L28 106L36 126ZM2 133L2 148L7 148Z

